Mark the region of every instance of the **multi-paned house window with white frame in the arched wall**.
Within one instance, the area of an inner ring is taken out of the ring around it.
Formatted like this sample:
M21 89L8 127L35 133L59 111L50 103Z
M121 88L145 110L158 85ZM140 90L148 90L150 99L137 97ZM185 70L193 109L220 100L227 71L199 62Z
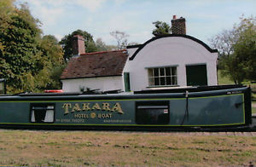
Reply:
M177 66L148 68L149 86L177 85Z

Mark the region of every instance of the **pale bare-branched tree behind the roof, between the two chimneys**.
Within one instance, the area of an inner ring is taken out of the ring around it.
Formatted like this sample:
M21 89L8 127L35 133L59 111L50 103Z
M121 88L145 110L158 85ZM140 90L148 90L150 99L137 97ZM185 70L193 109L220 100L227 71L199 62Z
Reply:
M110 32L110 35L112 35L117 40L117 47L119 50L125 49L128 43L128 40L127 40L127 37L129 37L128 34L126 34L125 32L114 31L114 32Z

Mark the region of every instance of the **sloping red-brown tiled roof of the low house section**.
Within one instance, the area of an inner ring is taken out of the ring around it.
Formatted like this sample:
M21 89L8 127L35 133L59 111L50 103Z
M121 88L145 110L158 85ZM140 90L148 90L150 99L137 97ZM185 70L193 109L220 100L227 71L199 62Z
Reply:
M126 50L79 55L68 62L61 79L119 76L122 75L127 57Z

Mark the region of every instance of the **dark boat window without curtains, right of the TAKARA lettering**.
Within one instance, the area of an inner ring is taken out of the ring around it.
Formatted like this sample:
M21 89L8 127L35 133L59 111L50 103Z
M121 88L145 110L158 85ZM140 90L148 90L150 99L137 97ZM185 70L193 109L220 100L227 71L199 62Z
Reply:
M136 107L137 124L169 124L168 101L139 101Z

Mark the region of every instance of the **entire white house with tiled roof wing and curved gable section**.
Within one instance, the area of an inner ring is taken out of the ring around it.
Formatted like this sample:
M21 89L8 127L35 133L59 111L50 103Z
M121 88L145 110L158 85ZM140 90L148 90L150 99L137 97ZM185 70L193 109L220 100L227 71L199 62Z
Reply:
M217 85L218 51L185 32L184 18L174 17L172 34L126 50L82 53L62 73L62 89L139 91Z

